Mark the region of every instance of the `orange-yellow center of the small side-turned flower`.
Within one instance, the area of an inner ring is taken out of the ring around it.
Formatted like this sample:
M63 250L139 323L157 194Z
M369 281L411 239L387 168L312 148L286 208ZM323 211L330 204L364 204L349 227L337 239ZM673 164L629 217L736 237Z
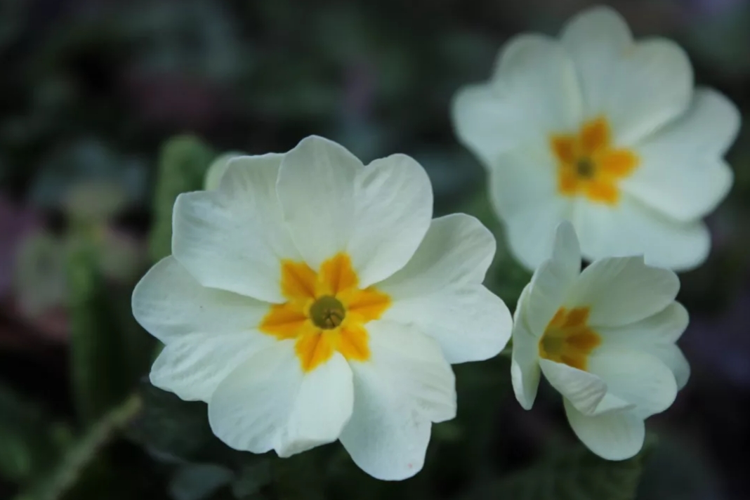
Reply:
M588 307L557 310L539 340L539 356L586 370L589 355L601 343L601 337L587 325L588 319Z

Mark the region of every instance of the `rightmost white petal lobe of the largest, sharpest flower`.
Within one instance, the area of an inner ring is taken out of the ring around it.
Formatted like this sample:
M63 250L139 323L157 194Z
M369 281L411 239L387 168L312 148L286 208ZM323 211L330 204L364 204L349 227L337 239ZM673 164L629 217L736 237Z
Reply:
M395 300L383 319L413 325L437 340L450 364L493 358L508 343L513 325L505 303L481 285Z

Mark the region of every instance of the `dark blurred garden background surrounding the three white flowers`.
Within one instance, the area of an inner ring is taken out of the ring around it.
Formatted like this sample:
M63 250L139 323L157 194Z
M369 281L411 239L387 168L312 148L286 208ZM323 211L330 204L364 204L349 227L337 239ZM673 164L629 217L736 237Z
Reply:
M217 154L312 133L367 163L428 169L436 212L493 229L487 284L514 307L484 171L449 119L520 31L556 34L586 0L0 0L0 499L750 499L750 1L611 2L637 36L678 40L697 83L739 106L736 182L709 260L681 275L688 386L642 454L577 445L559 397L532 412L508 360L456 367L459 412L425 469L386 484L340 445L290 460L211 436L202 403L150 388L154 341L130 292L169 252L177 193Z

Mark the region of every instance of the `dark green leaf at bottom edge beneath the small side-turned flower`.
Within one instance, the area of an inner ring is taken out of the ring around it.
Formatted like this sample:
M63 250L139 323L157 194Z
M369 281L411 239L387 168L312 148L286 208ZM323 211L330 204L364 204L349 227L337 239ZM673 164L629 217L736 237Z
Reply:
M652 445L629 460L613 462L583 445L556 450L540 464L511 474L468 499L634 500Z

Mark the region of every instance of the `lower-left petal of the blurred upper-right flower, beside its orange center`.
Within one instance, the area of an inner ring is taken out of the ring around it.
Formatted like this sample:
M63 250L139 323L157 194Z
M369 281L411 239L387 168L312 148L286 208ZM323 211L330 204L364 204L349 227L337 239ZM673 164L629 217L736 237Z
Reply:
M572 199L558 193L550 151L515 149L490 170L490 199L505 223L511 253L531 271L549 259L558 224L573 215Z

